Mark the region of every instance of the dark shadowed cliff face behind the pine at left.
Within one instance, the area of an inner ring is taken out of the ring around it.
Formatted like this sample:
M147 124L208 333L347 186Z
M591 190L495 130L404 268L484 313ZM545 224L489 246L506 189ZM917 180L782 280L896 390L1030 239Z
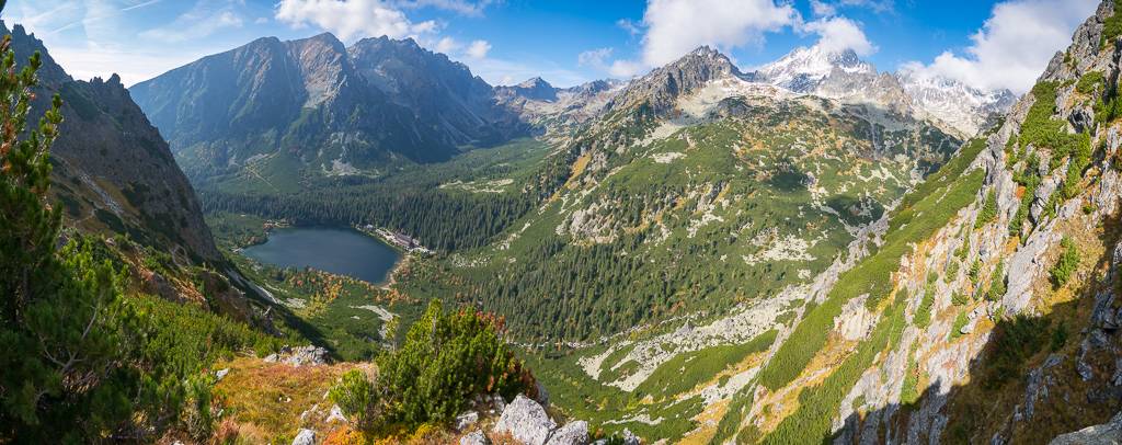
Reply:
M61 135L52 148L52 192L70 225L135 240L190 262L220 261L199 201L172 152L116 75L75 81L43 43L16 26L17 60L43 55L33 116L63 97Z

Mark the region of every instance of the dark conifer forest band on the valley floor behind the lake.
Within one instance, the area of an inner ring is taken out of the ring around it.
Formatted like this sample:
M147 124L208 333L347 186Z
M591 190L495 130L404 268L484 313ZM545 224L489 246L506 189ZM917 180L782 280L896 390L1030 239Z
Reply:
M519 193L472 194L440 189L377 184L320 188L275 196L201 191L203 210L287 218L296 225L371 224L403 231L429 248L456 251L486 245L533 208Z

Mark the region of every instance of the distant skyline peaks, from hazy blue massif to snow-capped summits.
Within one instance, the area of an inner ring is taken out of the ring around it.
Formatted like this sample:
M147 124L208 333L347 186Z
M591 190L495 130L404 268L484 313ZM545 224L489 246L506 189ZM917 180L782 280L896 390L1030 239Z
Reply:
M196 180L251 174L276 191L293 180L378 175L406 163L444 161L462 151L546 134L567 137L635 94L671 112L675 93L735 76L798 94L871 103L972 136L1013 101L959 82L879 73L854 52L797 48L744 73L702 47L654 70L662 91L596 81L559 89L534 78L491 87L468 66L412 39L367 38L350 47L330 34L261 38L203 57L130 89ZM703 63L699 63L702 61ZM683 65L683 63L686 63ZM708 71L711 70L711 71Z

